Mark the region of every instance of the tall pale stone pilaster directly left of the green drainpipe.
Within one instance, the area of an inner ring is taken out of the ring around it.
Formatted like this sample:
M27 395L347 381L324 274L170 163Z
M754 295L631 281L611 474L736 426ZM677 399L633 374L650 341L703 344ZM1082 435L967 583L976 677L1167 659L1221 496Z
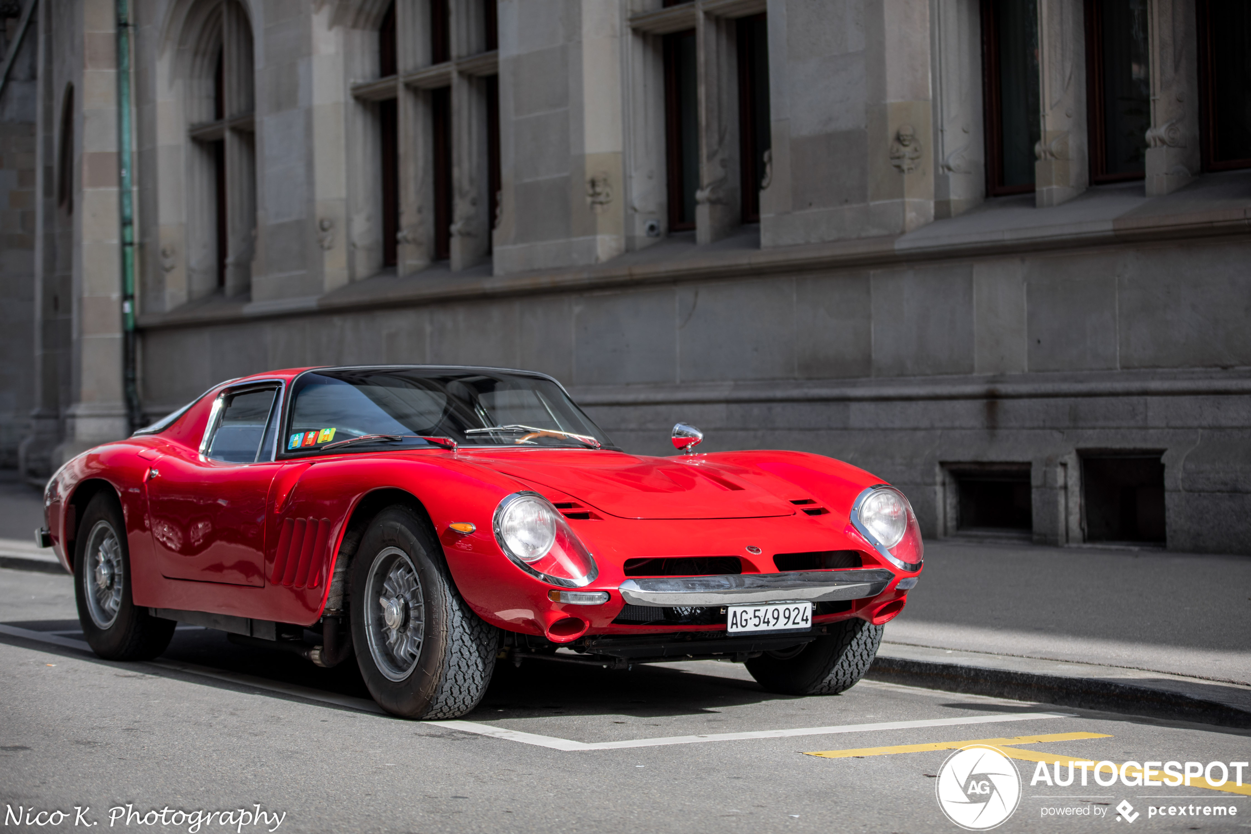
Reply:
M113 0L81 0L81 208L75 206L73 404L53 465L126 436L121 389L121 253L118 205L118 78ZM65 35L58 35L59 38Z

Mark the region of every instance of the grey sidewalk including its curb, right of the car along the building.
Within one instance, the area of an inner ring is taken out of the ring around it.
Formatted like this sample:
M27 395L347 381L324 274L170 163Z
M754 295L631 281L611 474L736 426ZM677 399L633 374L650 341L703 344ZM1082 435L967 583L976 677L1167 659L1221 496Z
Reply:
M871 676L1251 726L1251 556L926 544Z

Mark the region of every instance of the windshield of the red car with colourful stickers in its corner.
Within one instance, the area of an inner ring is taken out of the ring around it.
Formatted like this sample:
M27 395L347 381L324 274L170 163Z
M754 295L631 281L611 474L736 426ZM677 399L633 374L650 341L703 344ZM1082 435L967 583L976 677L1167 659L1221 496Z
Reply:
M296 380L283 449L301 454L328 446L352 451L438 445L423 436L462 446L612 445L559 385L542 376L465 368L358 368L308 373ZM354 438L362 440L343 443Z

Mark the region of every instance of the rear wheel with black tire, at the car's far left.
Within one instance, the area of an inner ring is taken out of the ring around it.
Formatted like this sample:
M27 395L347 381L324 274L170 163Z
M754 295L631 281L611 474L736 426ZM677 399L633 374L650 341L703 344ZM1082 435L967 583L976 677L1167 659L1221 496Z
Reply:
M135 606L125 531L116 496L98 493L74 541L79 623L88 645L105 660L151 660L169 646L178 624Z

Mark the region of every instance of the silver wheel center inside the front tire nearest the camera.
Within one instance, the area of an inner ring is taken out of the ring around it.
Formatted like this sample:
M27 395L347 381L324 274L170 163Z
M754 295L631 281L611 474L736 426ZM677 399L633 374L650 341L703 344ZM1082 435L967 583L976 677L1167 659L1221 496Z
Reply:
M404 680L422 655L425 610L422 580L408 554L385 548L369 568L365 585L369 654L388 680Z

